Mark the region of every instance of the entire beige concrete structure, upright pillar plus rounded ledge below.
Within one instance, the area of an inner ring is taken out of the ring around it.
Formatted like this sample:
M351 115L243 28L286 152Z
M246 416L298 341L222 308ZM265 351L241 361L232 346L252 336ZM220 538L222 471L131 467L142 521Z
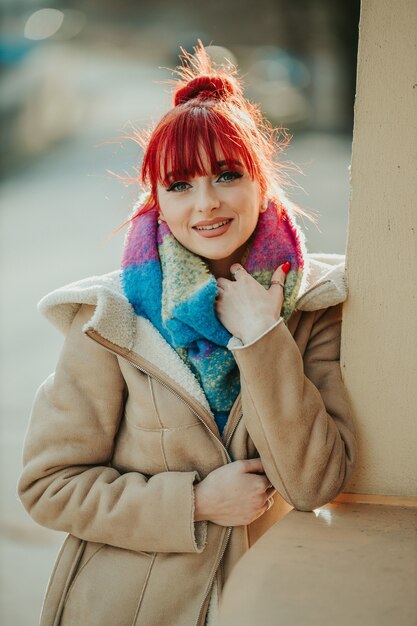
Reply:
M415 624L416 0L362 0L347 278L354 495L269 529L228 579L220 626Z

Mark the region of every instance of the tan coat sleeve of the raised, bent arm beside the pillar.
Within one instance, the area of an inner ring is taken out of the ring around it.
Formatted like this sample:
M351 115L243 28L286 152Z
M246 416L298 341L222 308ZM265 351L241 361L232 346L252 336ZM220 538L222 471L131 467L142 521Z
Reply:
M303 511L343 489L356 455L339 363L342 305L314 316L304 357L283 323L232 349L245 424L265 472L283 498Z

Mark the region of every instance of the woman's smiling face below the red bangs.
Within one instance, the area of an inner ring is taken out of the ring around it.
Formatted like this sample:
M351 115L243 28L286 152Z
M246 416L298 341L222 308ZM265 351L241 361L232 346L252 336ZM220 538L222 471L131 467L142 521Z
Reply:
M258 222L261 194L242 164L230 168L219 161L218 174L159 184L158 203L174 237L210 266L210 261L239 260Z

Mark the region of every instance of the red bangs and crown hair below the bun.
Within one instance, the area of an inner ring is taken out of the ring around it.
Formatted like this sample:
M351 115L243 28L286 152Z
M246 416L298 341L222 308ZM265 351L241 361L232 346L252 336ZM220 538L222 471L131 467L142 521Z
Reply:
M173 179L215 175L224 166L243 166L251 179L260 174L250 138L238 120L233 123L211 103L167 114L149 142L142 180L155 189L157 183L168 186Z

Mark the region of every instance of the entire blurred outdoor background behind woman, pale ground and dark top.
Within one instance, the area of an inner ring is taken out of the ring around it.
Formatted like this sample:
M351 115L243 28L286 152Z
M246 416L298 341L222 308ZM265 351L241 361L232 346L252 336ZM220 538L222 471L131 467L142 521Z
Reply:
M0 0L0 619L35 626L62 535L16 497L31 402L62 338L47 291L117 268L140 150L122 137L170 105L169 69L197 40L234 60L246 95L293 135L287 193L317 216L312 252L343 253L359 0ZM301 170L301 171L300 171Z

